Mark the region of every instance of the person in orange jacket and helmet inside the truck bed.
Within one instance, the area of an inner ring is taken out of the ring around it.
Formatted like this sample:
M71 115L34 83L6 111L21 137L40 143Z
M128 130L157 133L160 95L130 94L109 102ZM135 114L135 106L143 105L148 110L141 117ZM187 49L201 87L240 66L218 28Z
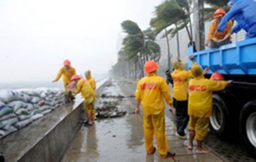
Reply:
M231 32L232 25L233 25L231 20L225 26L224 32L218 32L217 31L218 25L219 25L220 21L222 20L222 18L224 17L225 14L226 14L226 12L224 11L223 8L218 8L214 12L214 14L212 15L214 20L212 21L212 24L210 25L210 29L209 29L209 32L208 32L208 37L207 37L207 42L206 42L207 47L212 47L212 41L213 42L218 42L220 40L223 40L227 36L230 36L230 32ZM230 40L230 38L228 38L228 39ZM227 44L229 42L230 41L224 42L221 45Z

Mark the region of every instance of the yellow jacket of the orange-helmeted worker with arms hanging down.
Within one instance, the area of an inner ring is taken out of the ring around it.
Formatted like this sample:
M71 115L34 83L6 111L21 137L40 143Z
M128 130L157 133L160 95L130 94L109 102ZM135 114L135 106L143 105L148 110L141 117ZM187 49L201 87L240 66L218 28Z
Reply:
M171 92L166 80L156 73L150 73L137 82L135 96L143 105L144 115L162 113L165 109L165 100L169 105L172 104Z

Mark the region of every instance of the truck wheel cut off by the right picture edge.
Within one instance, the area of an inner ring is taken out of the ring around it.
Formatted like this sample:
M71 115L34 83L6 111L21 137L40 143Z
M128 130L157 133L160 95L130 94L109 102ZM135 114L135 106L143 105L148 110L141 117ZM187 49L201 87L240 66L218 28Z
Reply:
M250 101L241 109L240 135L247 151L256 157L256 101Z

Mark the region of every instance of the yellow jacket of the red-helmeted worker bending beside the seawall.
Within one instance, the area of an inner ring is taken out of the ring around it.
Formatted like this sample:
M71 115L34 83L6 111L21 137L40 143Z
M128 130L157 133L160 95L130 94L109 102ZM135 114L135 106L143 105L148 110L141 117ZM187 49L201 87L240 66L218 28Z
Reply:
M96 92L90 87L90 84L88 81L84 79L79 79L77 82L77 89L74 93L81 92L82 97L85 99L85 102L93 102L94 98L96 97Z

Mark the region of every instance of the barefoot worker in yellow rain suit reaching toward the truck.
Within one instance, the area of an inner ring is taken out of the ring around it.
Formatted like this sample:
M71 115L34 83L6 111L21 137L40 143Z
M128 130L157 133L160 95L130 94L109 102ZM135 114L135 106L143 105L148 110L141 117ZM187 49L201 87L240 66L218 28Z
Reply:
M231 81L213 81L205 79L200 65L192 69L194 79L189 81L189 149L193 149L194 138L197 153L208 153L202 148L207 136L209 117L212 115L212 91L223 90Z

